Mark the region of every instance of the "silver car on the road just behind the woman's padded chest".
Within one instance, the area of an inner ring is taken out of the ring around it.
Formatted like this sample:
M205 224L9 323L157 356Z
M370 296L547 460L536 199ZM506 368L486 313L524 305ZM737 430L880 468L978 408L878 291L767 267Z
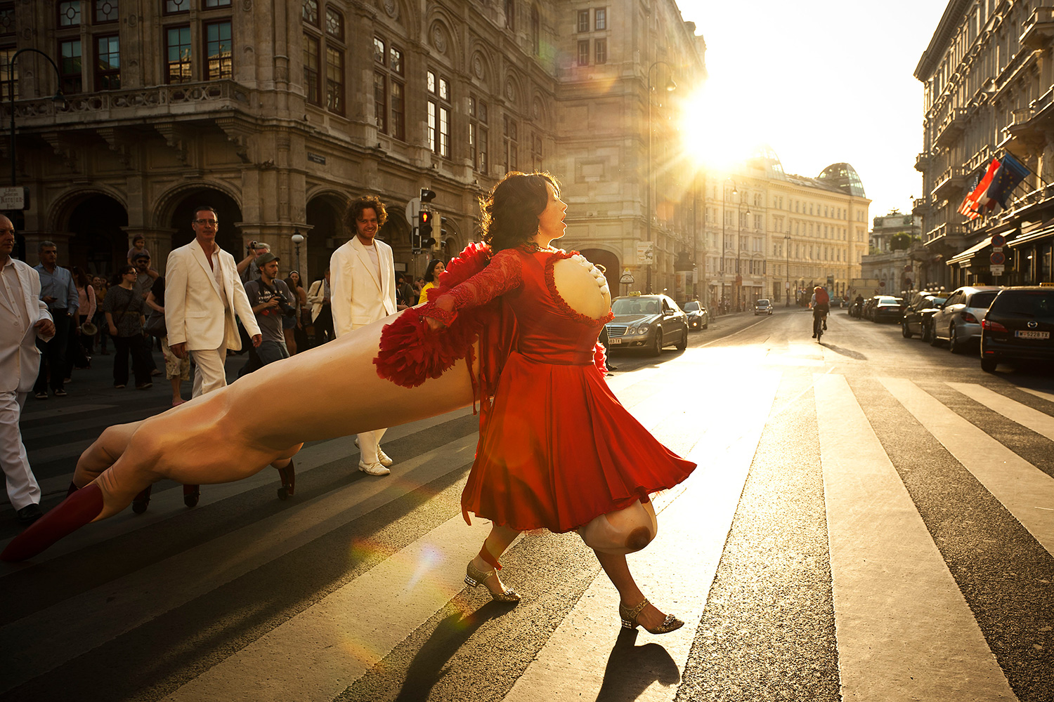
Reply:
M688 316L665 295L619 297L611 300L611 313L608 349L643 347L658 356L663 346L688 346Z

